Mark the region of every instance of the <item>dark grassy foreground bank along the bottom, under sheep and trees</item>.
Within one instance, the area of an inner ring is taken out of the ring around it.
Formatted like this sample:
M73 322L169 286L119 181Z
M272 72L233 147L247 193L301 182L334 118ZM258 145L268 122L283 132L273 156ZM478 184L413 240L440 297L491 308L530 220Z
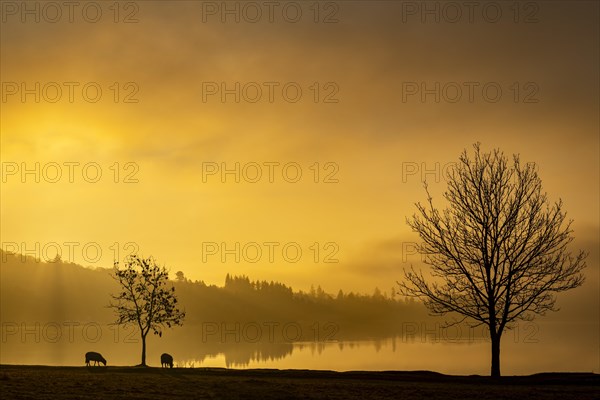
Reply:
M598 374L0 366L2 399L597 399Z

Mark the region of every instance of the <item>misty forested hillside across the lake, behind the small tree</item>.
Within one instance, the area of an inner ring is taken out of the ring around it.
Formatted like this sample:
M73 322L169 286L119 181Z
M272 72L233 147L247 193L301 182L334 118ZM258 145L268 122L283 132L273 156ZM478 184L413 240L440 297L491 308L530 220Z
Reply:
M106 308L109 294L118 289L110 268L91 269L61 260L39 262L4 251L0 255L2 321L114 320ZM177 335L187 339L231 342L239 333L246 340L248 335L256 336L258 329L261 341L368 339L397 334L403 321L427 318L421 304L378 289L372 295L342 290L333 295L320 287L294 291L282 283L230 275L221 287L192 282L183 273L173 284L187 314Z

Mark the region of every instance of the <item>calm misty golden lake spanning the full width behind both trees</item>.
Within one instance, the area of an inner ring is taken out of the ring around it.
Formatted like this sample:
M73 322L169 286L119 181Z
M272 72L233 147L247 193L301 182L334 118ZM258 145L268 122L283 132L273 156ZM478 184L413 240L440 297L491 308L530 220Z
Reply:
M558 328L561 327L561 329ZM13 332L3 326L3 364L83 365L86 351L100 351L109 365L140 362L141 344L135 336L117 337L114 328L91 329L56 326ZM598 323L567 326L551 323L521 325L502 341L503 374L544 371L600 372ZM37 330L37 331L36 331ZM24 333L24 335L23 335ZM85 340L81 338L87 335ZM293 368L328 370L433 370L448 374L488 374L489 342L453 340L433 335L331 342L205 342L200 337L182 340L176 335L149 337L147 362L160 365L160 354L171 353L176 366L230 368Z

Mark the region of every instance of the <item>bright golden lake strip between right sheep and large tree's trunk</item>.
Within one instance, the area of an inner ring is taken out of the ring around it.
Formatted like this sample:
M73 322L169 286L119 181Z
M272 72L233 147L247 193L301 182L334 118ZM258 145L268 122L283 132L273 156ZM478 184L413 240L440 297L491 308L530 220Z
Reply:
M273 351L280 353L273 356ZM184 358L182 366L320 370L419 370L445 373L487 373L488 344L406 342L401 338L349 342L301 342L273 346L266 354L227 349L200 358ZM460 359L460 366L449 366Z

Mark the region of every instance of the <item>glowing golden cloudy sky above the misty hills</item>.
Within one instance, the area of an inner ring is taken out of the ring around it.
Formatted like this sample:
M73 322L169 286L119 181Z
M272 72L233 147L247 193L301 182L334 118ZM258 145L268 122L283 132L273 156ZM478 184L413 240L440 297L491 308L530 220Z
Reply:
M63 259L73 248L73 261L106 267L114 243L122 257L133 242L207 283L233 273L389 292L419 261L406 254L418 238L405 218L425 199L421 173L437 166L426 177L441 193L443 167L479 141L538 164L544 190L575 220L574 244L591 251L597 288L598 3L499 2L495 22L478 3L452 22L456 10L429 2L436 22L416 2L280 2L271 22L265 2L253 3L260 18L229 2L239 23L221 2L80 2L72 22L66 7L59 17L30 4L33 14L2 2L5 250L24 243L44 258L58 243ZM22 176L35 163L39 182ZM236 163L239 183L203 175ZM221 247L236 242L239 263Z

